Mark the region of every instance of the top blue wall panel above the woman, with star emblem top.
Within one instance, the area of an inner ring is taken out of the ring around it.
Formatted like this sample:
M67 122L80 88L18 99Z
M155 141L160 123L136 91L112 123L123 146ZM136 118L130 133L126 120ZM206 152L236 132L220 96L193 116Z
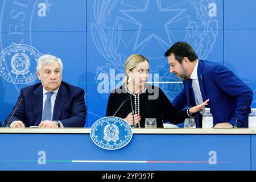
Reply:
M210 17L209 4L216 3L217 16ZM223 3L185 0L87 1L88 31L91 24L109 30L186 30L223 28ZM217 21L218 24L213 22ZM119 25L119 26L117 26Z

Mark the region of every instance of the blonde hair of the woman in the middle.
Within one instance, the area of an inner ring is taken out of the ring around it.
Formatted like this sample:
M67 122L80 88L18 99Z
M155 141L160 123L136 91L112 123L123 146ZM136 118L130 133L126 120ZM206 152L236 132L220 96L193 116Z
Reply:
M127 84L127 81L128 81L128 75L126 73L126 69L131 71L133 68L137 67L138 64L143 63L144 61L147 61L147 63L149 63L146 57L144 57L142 55L137 55L137 54L130 55L126 59L126 61L125 61L125 74L126 74L126 76L122 81L122 85Z

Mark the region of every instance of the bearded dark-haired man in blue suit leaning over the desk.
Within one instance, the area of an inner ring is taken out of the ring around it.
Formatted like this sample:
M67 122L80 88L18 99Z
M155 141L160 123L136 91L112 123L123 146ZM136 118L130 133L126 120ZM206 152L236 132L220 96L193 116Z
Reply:
M195 106L209 98L208 107L215 128L248 127L248 114L253 91L223 65L198 60L195 50L186 42L175 43L165 56L170 72L183 80L183 90L172 101L179 110ZM201 127L204 107L196 115L196 127Z

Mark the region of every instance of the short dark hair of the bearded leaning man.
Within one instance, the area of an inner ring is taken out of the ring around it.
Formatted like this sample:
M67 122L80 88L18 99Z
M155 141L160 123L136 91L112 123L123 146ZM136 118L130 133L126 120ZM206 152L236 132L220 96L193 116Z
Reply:
M182 63L184 57L188 57L189 61L193 62L198 59L196 51L187 42L176 42L168 51L165 53L165 57L170 56L174 53L174 57L179 63Z

